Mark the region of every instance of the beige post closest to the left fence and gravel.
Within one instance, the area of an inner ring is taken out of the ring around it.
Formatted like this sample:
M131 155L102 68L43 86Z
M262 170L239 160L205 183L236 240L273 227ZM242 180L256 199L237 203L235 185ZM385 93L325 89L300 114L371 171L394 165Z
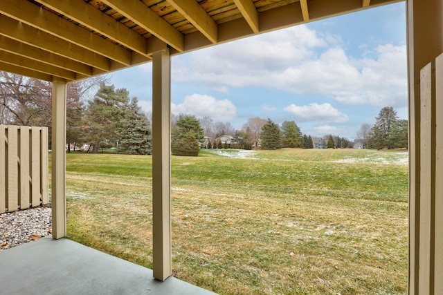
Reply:
M66 82L53 80L52 208L53 238L66 236Z

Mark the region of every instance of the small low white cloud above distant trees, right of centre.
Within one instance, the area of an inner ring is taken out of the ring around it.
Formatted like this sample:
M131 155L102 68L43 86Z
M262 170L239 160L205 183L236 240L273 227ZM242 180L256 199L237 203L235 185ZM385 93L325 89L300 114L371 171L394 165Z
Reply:
M307 106L297 106L290 104L283 108L284 111L294 115L299 122L335 122L341 123L348 120L347 115L338 111L331 104L309 104Z

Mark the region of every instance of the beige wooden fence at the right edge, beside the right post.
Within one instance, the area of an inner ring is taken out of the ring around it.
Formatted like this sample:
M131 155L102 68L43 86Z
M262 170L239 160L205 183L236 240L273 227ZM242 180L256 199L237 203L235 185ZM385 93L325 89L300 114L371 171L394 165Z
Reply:
M443 54L422 68L419 86L420 104L413 105L419 117L410 121L419 151L411 184L419 192L410 189L409 294L437 295L443 294Z

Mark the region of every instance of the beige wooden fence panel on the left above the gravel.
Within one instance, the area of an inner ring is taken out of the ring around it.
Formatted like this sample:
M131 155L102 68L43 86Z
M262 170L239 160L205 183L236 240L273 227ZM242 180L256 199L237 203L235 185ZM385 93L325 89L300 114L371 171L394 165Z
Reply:
M0 213L48 202L48 128L0 125Z

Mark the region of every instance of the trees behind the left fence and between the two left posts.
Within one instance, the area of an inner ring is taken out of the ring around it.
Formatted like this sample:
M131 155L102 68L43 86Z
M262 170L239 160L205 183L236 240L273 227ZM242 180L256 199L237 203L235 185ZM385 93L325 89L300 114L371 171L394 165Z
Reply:
M116 148L117 153L150 154L150 120L126 89L107 85L107 76L67 84L66 143L68 151L98 153ZM85 99L92 93L92 99ZM0 124L47 126L52 121L52 84L0 72ZM51 131L49 132L51 149Z

